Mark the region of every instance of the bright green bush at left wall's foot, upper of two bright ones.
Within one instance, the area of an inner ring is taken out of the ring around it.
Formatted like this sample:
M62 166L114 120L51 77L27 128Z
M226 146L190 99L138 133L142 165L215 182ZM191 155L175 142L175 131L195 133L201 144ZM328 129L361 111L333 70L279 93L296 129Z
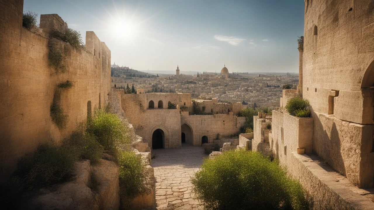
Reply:
M116 114L97 109L86 129L87 133L96 137L104 149L116 152L118 146L130 143L128 127Z

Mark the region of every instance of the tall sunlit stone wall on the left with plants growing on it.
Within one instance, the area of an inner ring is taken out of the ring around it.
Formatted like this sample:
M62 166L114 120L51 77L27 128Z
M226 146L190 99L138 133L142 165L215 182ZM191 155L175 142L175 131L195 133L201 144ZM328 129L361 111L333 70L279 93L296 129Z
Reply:
M0 9L0 174L7 177L19 157L40 143L60 142L86 120L88 101L92 109L99 101L107 103L110 68L103 68L101 59L90 52L77 52L69 44L53 40L66 56L65 72L56 73L48 65L49 35L22 27L23 1L0 0ZM104 51L110 62L110 51ZM67 80L73 87L57 87ZM65 129L59 129L50 117L55 91L61 93L61 107L68 115Z

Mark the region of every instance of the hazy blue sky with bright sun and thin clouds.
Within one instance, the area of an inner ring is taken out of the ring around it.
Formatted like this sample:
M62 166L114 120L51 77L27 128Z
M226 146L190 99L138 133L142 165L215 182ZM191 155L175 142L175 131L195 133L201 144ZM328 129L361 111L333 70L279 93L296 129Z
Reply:
M24 0L94 31L111 64L139 71L298 72L301 0ZM39 23L39 19L38 19Z

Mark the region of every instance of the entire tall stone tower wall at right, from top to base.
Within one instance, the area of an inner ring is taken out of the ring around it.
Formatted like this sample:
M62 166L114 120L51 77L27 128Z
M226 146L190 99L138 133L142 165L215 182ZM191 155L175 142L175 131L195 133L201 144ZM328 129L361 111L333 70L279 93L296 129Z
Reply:
M359 187L373 187L374 2L306 1L303 98L313 151ZM344 121L342 121L344 120ZM358 164L359 163L359 164Z

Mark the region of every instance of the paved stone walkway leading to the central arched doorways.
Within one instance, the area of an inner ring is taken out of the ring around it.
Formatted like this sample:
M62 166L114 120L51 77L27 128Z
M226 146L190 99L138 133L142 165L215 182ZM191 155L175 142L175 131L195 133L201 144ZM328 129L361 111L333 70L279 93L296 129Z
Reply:
M152 159L156 177L156 204L158 210L203 209L194 200L190 177L199 170L204 149L182 144L179 149L154 149Z

